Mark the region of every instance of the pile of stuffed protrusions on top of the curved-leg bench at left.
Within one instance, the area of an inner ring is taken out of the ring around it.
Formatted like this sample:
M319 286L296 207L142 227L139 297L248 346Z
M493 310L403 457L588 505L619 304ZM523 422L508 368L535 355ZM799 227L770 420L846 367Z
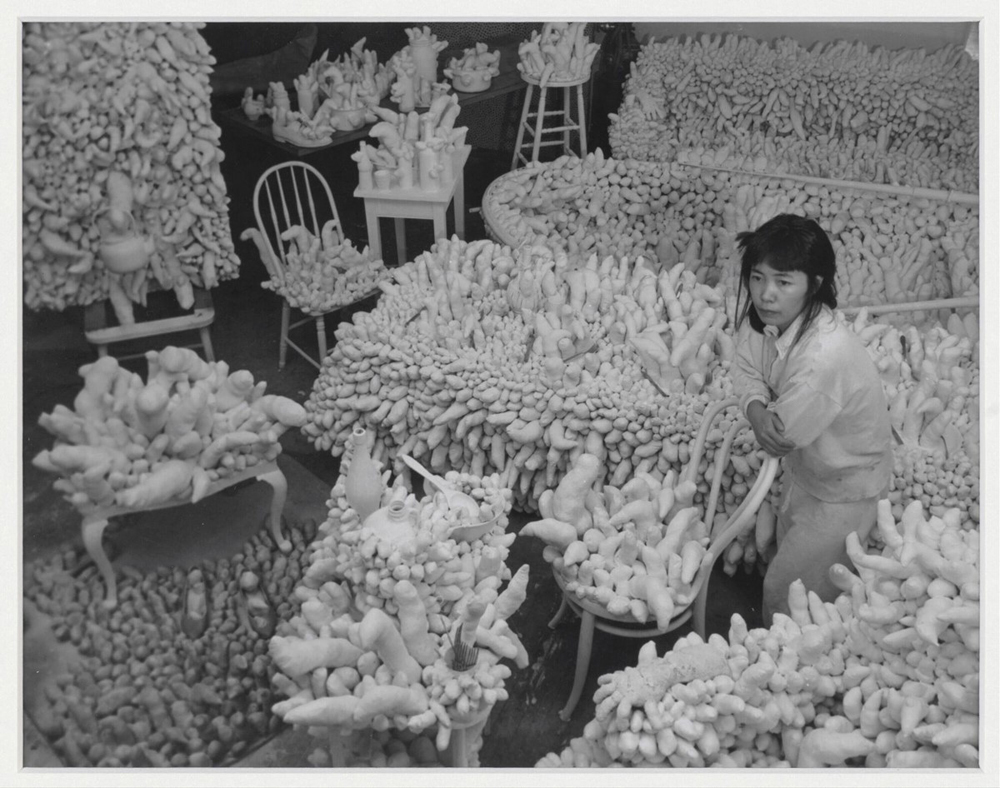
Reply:
M197 502L212 484L273 460L278 438L306 420L297 402L265 395L248 370L189 348L146 354L143 376L112 356L80 368L73 409L39 417L56 438L34 458L79 509Z

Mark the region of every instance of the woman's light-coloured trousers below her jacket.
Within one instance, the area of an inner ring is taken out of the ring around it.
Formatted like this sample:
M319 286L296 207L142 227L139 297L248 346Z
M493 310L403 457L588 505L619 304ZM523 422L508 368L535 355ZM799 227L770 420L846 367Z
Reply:
M853 570L844 545L847 535L857 531L861 544L875 525L878 501L883 495L860 501L828 503L816 498L791 480L785 490L775 524L778 552L764 575L764 626L771 626L775 613L788 615L788 587L801 578L807 591L815 591L824 602L839 595L829 577L834 564Z

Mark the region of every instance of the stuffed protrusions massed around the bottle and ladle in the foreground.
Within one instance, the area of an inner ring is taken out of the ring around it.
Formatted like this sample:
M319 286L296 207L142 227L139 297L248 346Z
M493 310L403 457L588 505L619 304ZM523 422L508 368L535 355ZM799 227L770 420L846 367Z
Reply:
M472 731L475 742L492 707L507 698L504 661L530 662L507 620L525 600L529 569L511 574L505 564L515 535L503 533L510 495L496 475L446 474L496 518L496 528L469 541L433 538L447 524L441 501L418 500L390 476L383 502L412 515L413 537L400 545L359 522L338 478L295 590L300 612L269 644L283 696L273 711L317 736L330 728L427 731L444 751L453 729ZM464 664L455 662L456 643L472 655Z

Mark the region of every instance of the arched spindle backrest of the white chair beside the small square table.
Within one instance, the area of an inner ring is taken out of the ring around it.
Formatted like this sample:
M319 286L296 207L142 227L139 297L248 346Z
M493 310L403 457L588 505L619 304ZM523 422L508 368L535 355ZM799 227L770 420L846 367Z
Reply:
M268 168L254 188L253 210L272 259L282 265L290 242L282 241L281 234L296 225L318 237L323 226L332 220L343 237L330 185L319 170L302 161L282 162Z

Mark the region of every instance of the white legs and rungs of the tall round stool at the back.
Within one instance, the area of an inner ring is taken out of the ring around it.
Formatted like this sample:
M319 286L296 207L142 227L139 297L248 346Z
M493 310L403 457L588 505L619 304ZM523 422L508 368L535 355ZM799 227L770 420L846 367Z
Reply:
M584 121L583 86L590 80L590 74L576 79L565 81L549 80L544 85L527 74L521 74L521 79L528 83L528 89L524 94L524 107L521 110L521 122L517 128L517 141L514 143L514 158L511 160L510 168L515 170L520 165L527 166L538 162L538 154L542 148L553 145L561 146L564 153L573 153L571 144L573 132L579 137L581 158L587 155L587 128ZM538 88L537 106L532 111L532 96L535 88ZM576 88L574 91L573 89ZM548 91L562 91L562 109L546 110ZM576 94L576 117L572 113L573 95ZM561 125L551 125L549 120ZM531 135L530 140L525 140L525 132ZM557 139L546 139L560 135ZM531 149L529 159L522 151L525 148Z

